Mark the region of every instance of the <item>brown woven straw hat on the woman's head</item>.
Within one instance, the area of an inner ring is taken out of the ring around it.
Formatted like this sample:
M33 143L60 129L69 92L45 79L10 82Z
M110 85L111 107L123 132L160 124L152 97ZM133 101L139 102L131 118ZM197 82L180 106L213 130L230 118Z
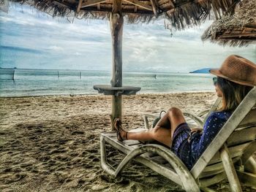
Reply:
M238 55L228 56L219 69L209 72L241 85L256 86L256 64Z

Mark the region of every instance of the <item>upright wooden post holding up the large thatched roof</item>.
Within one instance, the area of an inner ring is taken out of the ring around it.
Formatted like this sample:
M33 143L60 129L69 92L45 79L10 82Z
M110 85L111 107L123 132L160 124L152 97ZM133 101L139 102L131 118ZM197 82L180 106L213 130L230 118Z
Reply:
M121 15L121 0L113 1L113 10L110 15L110 30L112 35L113 71L111 86L120 88L122 86L122 38L124 18ZM114 130L113 120L121 118L121 95L112 96L111 127Z

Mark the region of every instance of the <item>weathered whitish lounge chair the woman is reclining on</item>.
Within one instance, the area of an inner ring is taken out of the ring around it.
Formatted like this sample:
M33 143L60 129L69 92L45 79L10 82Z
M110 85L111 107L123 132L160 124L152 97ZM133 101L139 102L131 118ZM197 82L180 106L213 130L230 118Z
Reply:
M256 188L256 87L248 93L191 170L161 145L135 140L119 142L116 133L102 134L102 169L116 177L132 159L181 185L185 191L211 191L208 186L227 178L231 191L241 184ZM116 169L107 161L105 143L127 154ZM152 155L155 154L155 155Z

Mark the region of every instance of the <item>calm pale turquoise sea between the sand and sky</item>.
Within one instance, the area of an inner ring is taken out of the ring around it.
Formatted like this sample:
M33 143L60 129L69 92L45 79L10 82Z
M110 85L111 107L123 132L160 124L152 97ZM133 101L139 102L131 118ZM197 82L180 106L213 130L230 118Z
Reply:
M140 87L138 93L213 91L211 79L210 74L123 73L123 85ZM97 94L93 85L110 80L105 71L0 69L0 96Z

